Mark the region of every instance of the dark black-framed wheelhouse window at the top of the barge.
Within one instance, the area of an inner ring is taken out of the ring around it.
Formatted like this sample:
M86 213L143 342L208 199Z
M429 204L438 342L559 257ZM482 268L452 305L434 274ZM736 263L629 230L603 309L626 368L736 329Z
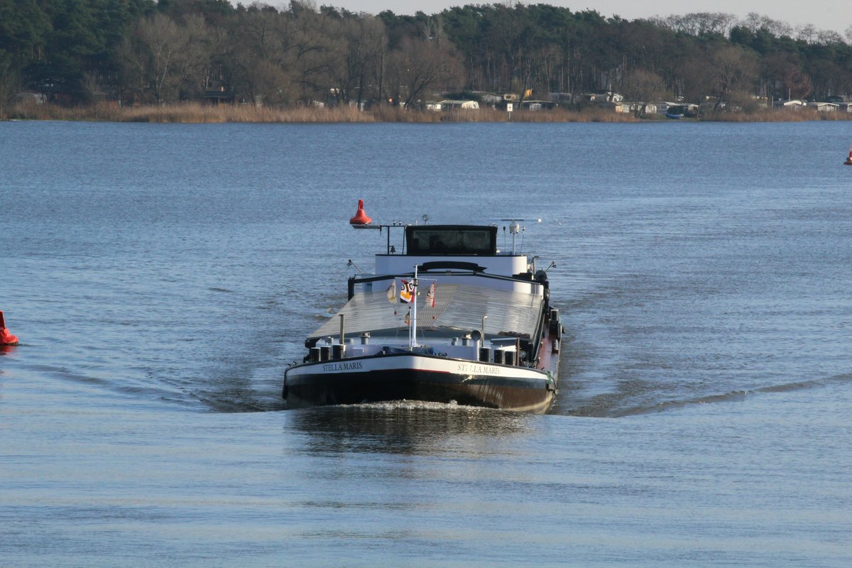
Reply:
M406 227L409 255L496 255L497 227Z

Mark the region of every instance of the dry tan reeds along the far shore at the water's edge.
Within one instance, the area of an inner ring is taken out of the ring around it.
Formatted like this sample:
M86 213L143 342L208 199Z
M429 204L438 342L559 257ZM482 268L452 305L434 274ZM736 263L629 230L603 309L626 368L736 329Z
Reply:
M579 111L554 108L537 112L505 112L491 108L421 111L399 106L377 106L359 111L351 106L294 106L276 108L252 105L203 105L197 102L170 105L119 107L98 103L90 106L57 106L21 103L8 109L7 118L20 120L72 120L137 123L635 123L631 113L584 108ZM812 109L756 112L717 112L701 120L714 122L803 122L849 120L852 112L816 112Z

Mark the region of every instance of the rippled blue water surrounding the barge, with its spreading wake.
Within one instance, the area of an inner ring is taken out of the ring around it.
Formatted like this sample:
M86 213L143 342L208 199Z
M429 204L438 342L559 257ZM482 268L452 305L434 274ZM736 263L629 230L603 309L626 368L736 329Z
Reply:
M3 565L849 565L850 138L0 123ZM550 414L283 410L358 198L543 219Z

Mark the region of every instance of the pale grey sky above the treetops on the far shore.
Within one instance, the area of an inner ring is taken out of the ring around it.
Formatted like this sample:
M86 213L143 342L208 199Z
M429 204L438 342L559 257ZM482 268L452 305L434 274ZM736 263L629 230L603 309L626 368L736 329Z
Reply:
M262 0L261 0L262 1ZM435 14L451 6L465 4L492 4L495 2L451 2L448 0L314 0L317 6L331 5L352 12L378 14L390 10L394 14L414 14L422 10L426 14ZM251 3L243 0L244 4ZM262 2L263 3L263 2ZM286 0L267 0L266 3L278 6L289 4ZM745 18L746 14L756 12L773 20L786 21L791 26L813 24L820 30L833 30L841 35L852 26L852 11L849 0L828 0L827 2L790 2L779 0L550 0L525 2L562 6L572 12L584 9L597 10L604 17L617 14L625 20L649 18L654 15L688 14L690 12L722 12Z

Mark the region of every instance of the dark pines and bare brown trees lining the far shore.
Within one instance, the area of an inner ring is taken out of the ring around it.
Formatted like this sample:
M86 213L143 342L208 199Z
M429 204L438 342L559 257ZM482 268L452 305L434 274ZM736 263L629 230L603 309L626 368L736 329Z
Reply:
M624 20L521 3L374 15L309 0L0 0L0 110L22 90L66 104L214 96L412 106L434 93L614 91L747 105L852 93L852 46L759 14Z

